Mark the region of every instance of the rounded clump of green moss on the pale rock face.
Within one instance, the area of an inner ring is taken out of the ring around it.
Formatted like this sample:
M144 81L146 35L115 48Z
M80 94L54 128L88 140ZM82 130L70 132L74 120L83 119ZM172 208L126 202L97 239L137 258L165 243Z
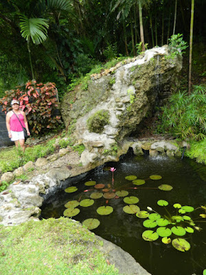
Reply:
M89 132L102 133L104 126L109 123L109 113L106 110L100 110L91 115L87 120Z

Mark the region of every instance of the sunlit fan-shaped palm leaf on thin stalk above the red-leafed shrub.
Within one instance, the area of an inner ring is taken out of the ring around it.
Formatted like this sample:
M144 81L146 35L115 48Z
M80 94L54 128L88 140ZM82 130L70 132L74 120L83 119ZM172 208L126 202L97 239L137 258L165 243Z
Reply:
M20 29L21 35L27 41L27 49L30 56L30 66L32 70L32 78L34 79L34 70L32 66L32 57L30 50L30 39L34 44L40 44L47 39L47 29L49 25L46 19L42 18L30 18L28 19L25 15L20 15Z

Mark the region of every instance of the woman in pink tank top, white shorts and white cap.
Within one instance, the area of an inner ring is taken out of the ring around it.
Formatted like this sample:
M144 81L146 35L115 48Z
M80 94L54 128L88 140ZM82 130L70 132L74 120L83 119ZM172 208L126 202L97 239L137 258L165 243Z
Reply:
M23 134L23 127L25 127L27 130L27 135L30 135L27 118L25 116L25 112L19 110L18 100L12 100L11 105L12 111L9 111L5 117L8 136L13 142L15 142L16 147L20 145L22 151L25 152L25 137Z

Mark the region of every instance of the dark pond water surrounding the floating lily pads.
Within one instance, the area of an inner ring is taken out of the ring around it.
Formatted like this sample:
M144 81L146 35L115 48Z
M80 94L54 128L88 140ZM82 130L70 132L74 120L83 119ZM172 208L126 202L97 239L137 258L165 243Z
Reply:
M147 206L157 212L163 211L157 205L159 199L168 201L167 209L174 214L174 203L181 203L182 206L193 206L197 208L206 204L206 168L191 159L183 160L168 157L150 156L135 157L128 154L118 163L109 164L115 167L114 189L128 190L128 196L139 198L137 205L141 210L147 210ZM137 186L125 179L127 175L136 175L138 179L146 179L146 184ZM150 175L161 175L161 179L152 180ZM87 199L90 192L83 192L86 187L84 183L88 180L96 181L97 184L111 184L111 171L95 170L87 179L80 181L76 186L77 192L66 193L64 190L58 192L56 200L45 205L42 209L42 217L58 218L63 215L65 203L73 199ZM161 184L173 186L171 191L159 190ZM123 187L124 186L124 187ZM165 245L161 238L157 241L144 241L141 234L147 230L144 228L144 219L139 219L135 214L126 214L122 208L126 206L124 198L110 199L106 204L103 197L96 199L93 206L80 208L80 213L73 217L78 221L96 218L100 220L100 226L93 230L95 234L104 239L119 245L122 249L130 253L152 275L201 275L206 268L206 223L201 223L197 219L196 226L203 228L201 232L195 230L194 234L185 235L185 239L190 242L191 248L187 252L179 252L172 247L172 244ZM99 206L112 206L114 211L108 216L100 216L96 209ZM198 217L203 210L196 210L192 213L192 219ZM206 219L205 219L206 221ZM171 239L174 239L174 237Z

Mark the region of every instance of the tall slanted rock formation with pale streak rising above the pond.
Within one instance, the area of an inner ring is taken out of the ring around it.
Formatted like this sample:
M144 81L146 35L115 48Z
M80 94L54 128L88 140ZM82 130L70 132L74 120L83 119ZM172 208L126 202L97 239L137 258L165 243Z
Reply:
M93 74L87 91L65 95L62 118L66 126L75 125L76 140L86 147L83 165L114 160L124 138L137 132L140 122L152 116L155 107L171 94L172 86L178 84L182 58L172 60L165 57L168 54L167 46L147 50L144 56Z

